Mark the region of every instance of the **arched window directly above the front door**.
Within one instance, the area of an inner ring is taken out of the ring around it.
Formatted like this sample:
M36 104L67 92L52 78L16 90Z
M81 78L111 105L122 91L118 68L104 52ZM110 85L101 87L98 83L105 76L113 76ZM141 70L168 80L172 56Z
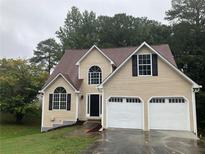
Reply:
M102 71L98 66L92 66L88 73L88 84L100 84L102 82Z

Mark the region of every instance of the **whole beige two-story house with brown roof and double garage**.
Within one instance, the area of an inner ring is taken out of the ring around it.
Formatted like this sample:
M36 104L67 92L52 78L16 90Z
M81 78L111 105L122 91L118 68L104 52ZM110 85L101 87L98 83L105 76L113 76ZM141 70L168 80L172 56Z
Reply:
M68 50L41 90L41 130L95 119L105 129L196 133L200 88L166 44Z

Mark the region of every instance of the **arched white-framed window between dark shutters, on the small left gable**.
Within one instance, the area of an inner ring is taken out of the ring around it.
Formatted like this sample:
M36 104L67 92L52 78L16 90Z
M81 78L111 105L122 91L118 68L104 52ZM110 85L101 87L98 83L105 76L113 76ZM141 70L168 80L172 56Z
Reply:
M67 106L67 93L65 88L57 87L53 94L53 109L66 109Z

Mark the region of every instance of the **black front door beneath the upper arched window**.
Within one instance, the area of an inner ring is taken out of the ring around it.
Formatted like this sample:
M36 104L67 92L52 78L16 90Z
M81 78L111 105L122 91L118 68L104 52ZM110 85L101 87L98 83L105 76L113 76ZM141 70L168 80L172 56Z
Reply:
M97 94L90 95L90 116L99 116L99 95Z

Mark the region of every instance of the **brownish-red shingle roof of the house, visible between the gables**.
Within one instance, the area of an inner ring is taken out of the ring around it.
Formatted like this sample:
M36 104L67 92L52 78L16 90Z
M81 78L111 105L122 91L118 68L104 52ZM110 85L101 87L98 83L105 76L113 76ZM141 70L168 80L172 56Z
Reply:
M167 44L152 45L159 54L166 58L170 63L176 66L176 62L172 52ZM118 67L137 47L122 48L103 48L101 51L105 53ZM66 50L58 65L56 65L53 73L49 76L44 87L52 81L56 75L61 73L77 90L80 89L82 79L78 79L78 67L76 62L88 51L88 49L70 49Z

